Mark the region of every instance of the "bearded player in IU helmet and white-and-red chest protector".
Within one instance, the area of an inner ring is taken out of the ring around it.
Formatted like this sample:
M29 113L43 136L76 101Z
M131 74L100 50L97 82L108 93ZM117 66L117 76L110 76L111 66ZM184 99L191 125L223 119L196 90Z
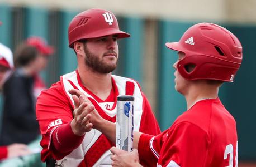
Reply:
M91 124L84 126L86 119L81 111L85 106L76 103L69 90L83 92L99 115L110 122L116 122L117 96L133 95L134 128L146 134L159 134L158 123L139 84L111 74L117 65L117 40L130 35L119 30L110 11L89 9L72 19L68 37L69 47L77 55L77 70L61 76L59 82L41 93L36 104L42 134L41 159L55 159L62 166L110 166L110 148L114 144L91 129Z

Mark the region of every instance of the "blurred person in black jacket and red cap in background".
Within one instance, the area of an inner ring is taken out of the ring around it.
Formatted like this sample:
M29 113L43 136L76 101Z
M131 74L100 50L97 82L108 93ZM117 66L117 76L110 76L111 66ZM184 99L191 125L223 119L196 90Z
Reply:
M17 47L15 72L3 86L4 110L0 145L28 144L39 136L35 102L45 89L39 72L44 70L53 47L40 37L30 37Z

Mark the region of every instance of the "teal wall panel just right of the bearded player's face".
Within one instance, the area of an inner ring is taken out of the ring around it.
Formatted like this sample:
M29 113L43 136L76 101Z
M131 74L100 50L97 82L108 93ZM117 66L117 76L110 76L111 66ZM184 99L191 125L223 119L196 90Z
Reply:
M119 58L116 75L133 78L140 84L143 82L143 30L142 18L117 18L120 30L131 35L129 38L118 40Z

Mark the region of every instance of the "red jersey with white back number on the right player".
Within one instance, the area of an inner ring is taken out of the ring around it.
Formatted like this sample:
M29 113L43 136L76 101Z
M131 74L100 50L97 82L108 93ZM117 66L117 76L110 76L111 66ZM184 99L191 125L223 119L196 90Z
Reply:
M162 134L141 135L138 150L151 166L238 166L237 140L233 116L219 98L207 99Z

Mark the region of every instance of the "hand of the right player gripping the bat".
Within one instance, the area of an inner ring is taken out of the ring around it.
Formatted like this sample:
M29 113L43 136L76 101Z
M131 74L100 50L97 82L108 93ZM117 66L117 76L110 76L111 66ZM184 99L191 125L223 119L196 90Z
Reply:
M137 149L133 149L131 153L112 147L110 149L112 155L110 156L114 167L118 166L141 166L139 160L139 153Z

